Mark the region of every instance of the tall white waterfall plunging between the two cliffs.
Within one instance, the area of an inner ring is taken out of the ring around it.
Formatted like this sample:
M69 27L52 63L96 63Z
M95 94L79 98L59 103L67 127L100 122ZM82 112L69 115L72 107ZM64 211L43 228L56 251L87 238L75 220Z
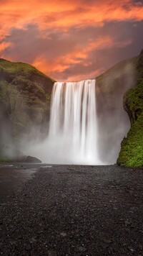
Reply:
M101 164L95 83L92 79L54 83L46 163Z

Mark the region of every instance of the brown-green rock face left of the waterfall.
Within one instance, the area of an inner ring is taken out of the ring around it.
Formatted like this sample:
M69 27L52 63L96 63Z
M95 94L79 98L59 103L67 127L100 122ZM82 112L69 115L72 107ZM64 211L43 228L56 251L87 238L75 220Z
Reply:
M53 85L54 80L29 64L0 59L0 149L8 152L24 134L36 136L32 127L47 130Z

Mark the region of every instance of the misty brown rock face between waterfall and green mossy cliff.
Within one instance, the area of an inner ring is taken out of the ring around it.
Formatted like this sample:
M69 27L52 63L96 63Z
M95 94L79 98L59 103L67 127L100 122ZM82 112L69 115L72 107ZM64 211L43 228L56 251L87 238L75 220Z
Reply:
M97 77L97 114L99 118L99 157L115 163L120 143L129 131L129 119L123 108L123 95L137 84L139 57L123 60Z

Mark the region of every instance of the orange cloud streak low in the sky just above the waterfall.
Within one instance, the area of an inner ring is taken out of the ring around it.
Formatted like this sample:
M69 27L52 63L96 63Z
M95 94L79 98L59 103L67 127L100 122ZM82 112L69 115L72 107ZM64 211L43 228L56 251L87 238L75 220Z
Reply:
M104 47L113 47L114 43L115 42L113 42L111 37L99 37L96 41L89 40L85 47L77 45L74 50L71 50L66 55L60 56L59 58L45 59L44 56L39 56L36 58L36 60L34 60L32 65L42 72L49 74L49 76L59 79L60 73L64 73L64 71L67 68L70 68L72 64L81 64L84 67L92 65L90 61L87 61L90 52L93 50L102 50ZM88 71L88 76L91 78L95 77L97 74L99 74L99 71L101 71L101 69L91 72ZM56 77L57 73L59 76ZM67 81L78 81L79 79L84 79L86 77L87 73L84 75L82 73L79 73L78 75L73 74L72 76L69 76Z

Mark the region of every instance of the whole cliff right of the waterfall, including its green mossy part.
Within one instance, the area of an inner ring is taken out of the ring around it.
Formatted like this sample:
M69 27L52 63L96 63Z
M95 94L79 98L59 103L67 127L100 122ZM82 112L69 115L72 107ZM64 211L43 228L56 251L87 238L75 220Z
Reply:
M116 159L123 134L129 131L127 139L122 142L117 163L127 166L142 165L140 158L143 159L143 142L141 138L139 140L139 137L143 137L142 81L143 50L139 56L123 60L97 77L99 153L105 162L109 162L111 158Z

